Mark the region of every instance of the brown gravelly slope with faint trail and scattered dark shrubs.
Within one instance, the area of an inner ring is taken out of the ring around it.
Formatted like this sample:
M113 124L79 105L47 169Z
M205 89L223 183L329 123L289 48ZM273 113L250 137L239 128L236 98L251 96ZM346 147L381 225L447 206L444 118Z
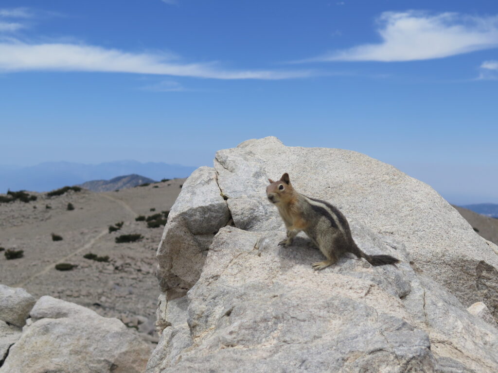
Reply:
M30 192L37 197L35 201L0 203L0 247L4 248L0 283L23 287L35 297L50 295L102 316L117 317L154 340L158 294L154 253L163 224L148 228L147 221L135 218L168 211L183 181L102 193L68 190L51 197ZM68 203L74 210L67 209ZM118 228L121 222L121 228L110 232L110 226ZM52 234L62 240L53 241ZM126 234L142 238L116 242ZM23 250L23 257L7 260L7 250ZM85 259L90 253L109 260ZM56 270L62 263L76 267Z

